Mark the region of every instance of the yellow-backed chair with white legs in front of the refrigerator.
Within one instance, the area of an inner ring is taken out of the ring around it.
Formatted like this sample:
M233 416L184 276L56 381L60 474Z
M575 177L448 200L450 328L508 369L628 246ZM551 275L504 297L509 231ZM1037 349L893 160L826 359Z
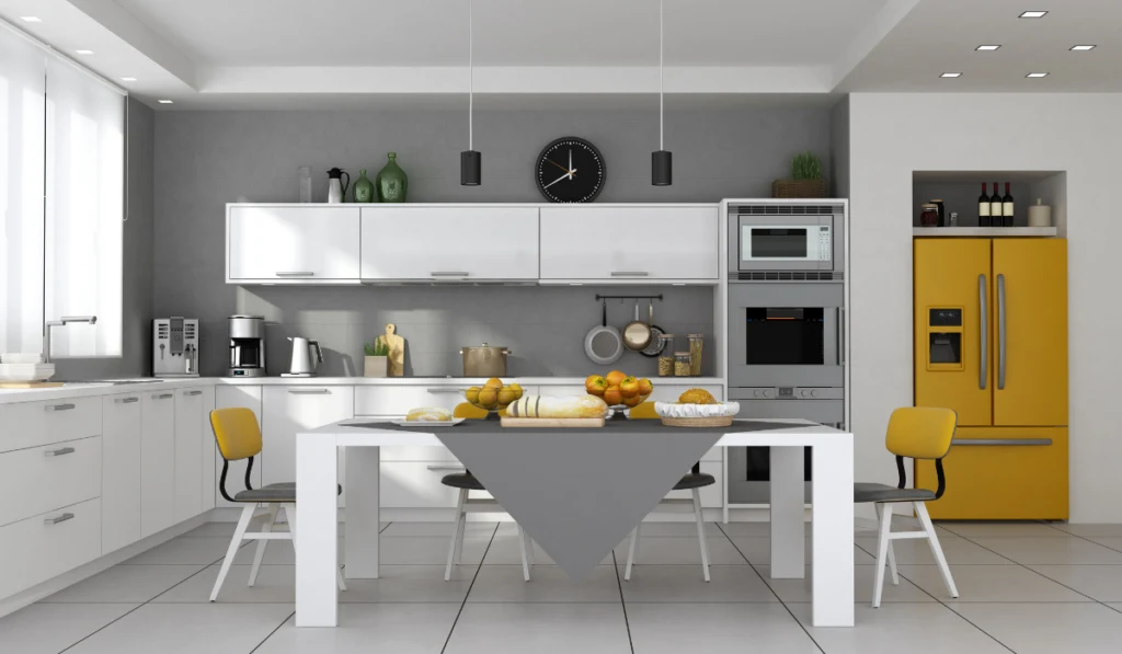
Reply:
M900 481L896 486L885 483L855 483L853 500L857 504L874 503L880 522L876 549L876 581L873 584L873 608L881 606L881 590L884 586L885 562L892 572L892 584L899 586L896 574L896 558L892 552L892 541L900 538L927 538L931 546L942 581L947 584L950 597L958 597L958 589L942 555L939 536L927 513L928 501L942 497L947 487L947 478L942 472L942 458L950 451L955 437L958 416L949 408L904 407L892 412L889 418L889 431L884 444L896 455L896 471ZM939 487L934 492L927 488L907 488L908 476L904 472L904 458L935 460L935 471ZM891 529L892 508L896 503L910 503L916 508L916 515L923 525L922 532L895 532Z

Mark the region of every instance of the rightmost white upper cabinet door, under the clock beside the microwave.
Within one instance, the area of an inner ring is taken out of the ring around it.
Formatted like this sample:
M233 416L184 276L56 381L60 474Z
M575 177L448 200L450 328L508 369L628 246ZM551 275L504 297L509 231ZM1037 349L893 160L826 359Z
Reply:
M716 205L541 210L542 282L716 283Z

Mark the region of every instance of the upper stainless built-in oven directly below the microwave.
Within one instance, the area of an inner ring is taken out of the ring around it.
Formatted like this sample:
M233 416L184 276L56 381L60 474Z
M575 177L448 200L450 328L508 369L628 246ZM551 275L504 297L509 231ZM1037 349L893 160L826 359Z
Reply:
M728 386L842 387L842 305L834 283L728 285Z

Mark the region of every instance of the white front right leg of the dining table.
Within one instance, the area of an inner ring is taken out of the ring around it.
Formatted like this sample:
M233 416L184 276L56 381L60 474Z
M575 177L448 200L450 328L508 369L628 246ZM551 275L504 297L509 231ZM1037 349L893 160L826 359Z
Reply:
M774 448L772 449L774 451ZM813 483L812 617L816 627L853 626L853 441L811 453Z

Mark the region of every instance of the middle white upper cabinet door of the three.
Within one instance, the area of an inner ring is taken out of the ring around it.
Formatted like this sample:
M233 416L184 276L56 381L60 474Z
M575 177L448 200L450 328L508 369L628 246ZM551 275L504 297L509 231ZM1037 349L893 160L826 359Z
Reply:
M364 208L362 279L537 279L537 208Z

